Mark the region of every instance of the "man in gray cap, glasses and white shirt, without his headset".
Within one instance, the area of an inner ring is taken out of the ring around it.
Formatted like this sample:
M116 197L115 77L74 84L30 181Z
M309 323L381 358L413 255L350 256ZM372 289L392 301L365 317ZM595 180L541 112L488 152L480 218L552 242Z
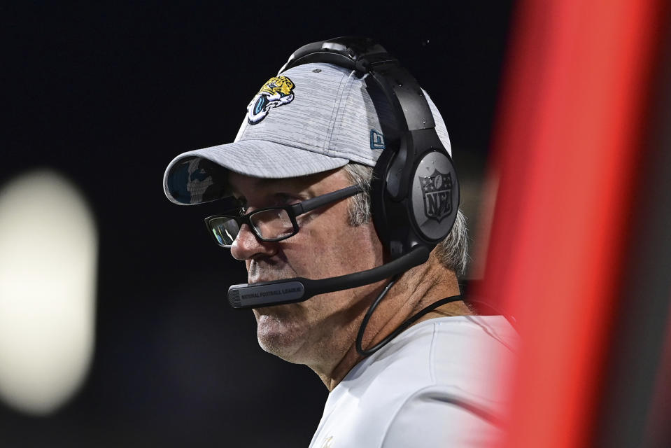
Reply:
M388 262L369 186L398 123L366 78L320 62L290 68L253 97L234 143L169 165L173 202L236 206L206 222L216 243L246 262L250 286ZM315 200L323 204L306 206ZM466 250L458 214L427 262L392 279L253 309L262 349L308 365L330 391L311 447L481 446L500 435L496 372L516 335L501 316L473 316L460 300Z

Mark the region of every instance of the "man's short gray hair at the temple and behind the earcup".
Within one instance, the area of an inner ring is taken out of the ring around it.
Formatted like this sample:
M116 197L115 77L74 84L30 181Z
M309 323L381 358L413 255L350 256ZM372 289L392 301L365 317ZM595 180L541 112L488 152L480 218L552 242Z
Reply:
M349 203L349 221L351 225L362 225L371 220L370 183L373 168L355 162L344 166L345 174L354 185L363 188L365 193L351 197ZM447 237L436 246L436 255L441 264L457 274L464 274L468 264L468 235L466 217L461 210Z

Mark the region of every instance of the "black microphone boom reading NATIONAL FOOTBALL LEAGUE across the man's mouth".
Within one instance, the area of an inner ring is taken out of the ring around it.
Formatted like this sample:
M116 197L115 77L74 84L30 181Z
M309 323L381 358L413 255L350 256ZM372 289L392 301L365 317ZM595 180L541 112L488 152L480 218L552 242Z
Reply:
M426 246L415 246L406 255L367 271L355 272L322 280L296 277L276 281L264 281L248 285L241 283L228 288L228 302L234 308L258 308L272 305L303 302L313 295L356 288L388 279L428 260Z

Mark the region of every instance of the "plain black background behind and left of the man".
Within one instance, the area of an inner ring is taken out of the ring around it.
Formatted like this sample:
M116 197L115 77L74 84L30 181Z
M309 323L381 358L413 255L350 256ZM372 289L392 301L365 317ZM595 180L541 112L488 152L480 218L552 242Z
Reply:
M92 370L50 416L0 402L3 447L307 446L327 389L261 351L229 309L241 263L202 218L162 193L168 162L232 141L290 53L346 34L377 38L446 121L464 207L477 210L511 1L70 3L0 6L0 185L55 169L99 230ZM474 218L474 216L472 216Z

